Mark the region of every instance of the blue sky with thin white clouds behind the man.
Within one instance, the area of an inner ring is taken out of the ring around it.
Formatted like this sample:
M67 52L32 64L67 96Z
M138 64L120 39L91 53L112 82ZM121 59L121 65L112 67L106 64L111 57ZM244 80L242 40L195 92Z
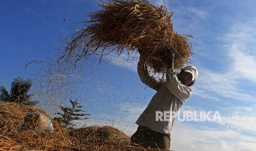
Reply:
M57 66L63 40L75 24L99 10L99 1L0 1L0 85L30 78L33 99L53 114L69 98L78 99L89 120L79 126L113 125L131 135L135 121L155 94L140 82L138 59L127 54L88 56ZM163 1L150 1L154 5ZM221 121L175 121L172 150L256 150L255 1L170 1L173 26L189 34L199 77L181 111L218 111ZM65 21L64 21L65 19ZM31 61L37 61L25 65ZM230 118L227 115L236 115Z

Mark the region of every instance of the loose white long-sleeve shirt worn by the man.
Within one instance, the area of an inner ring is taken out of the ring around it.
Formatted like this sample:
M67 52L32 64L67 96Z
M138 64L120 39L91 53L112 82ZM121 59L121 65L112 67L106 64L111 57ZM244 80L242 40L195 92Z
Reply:
M146 126L153 131L160 133L168 133L171 138L171 131L174 118L170 114L168 120L156 120L156 112L177 113L182 104L192 95L192 89L183 85L177 78L177 73L173 68L166 71L166 82L161 83L159 79L149 75L144 62L138 63L138 74L141 82L156 90L156 94L152 97L148 107L140 115L136 124Z

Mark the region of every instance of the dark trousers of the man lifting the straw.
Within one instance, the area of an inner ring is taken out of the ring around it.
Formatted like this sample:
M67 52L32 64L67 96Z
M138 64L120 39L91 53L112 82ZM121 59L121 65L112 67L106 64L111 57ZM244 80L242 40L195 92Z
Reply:
M170 149L170 136L150 130L148 127L139 126L137 131L130 137L130 142L139 144L144 148Z

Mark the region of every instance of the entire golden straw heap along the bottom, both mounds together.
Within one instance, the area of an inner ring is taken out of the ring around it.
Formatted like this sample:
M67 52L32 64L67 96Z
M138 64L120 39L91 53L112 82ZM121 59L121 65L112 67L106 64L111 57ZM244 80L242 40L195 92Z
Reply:
M0 102L0 150L159 150L130 146L130 138L111 126L67 130L52 120L54 131L21 130L30 112L39 108Z

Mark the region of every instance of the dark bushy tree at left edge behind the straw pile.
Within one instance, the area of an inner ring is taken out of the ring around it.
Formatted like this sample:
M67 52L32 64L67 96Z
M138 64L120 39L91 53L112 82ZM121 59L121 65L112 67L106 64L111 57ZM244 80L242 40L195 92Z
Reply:
M32 95L28 94L31 86L31 80L23 80L20 77L15 78L12 82L10 93L3 86L0 87L0 101L35 106L37 102L31 101Z

